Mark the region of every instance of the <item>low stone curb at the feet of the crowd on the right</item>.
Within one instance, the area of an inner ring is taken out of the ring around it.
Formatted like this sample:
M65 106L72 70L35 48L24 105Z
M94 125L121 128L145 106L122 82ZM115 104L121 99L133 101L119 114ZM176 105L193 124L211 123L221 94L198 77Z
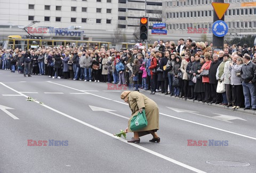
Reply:
M148 90L146 91L146 90L142 90L142 89L140 89L140 91L148 92L148 93L151 92L151 91L148 91ZM230 110L230 111L238 111L239 113L244 113L244 114L256 115L256 111L254 111L254 110L244 110L243 108L233 110L233 109L231 109L231 107L222 106L222 105L215 105L215 103L214 104L209 104L209 103L203 103L203 102L193 101L193 100L189 100L189 99L184 100L184 99L177 98L177 97L170 97L170 94L164 95L164 94L159 93L159 92L155 92L155 95L163 96L163 97L169 97L171 99L179 99L179 100L183 100L183 101L194 102L194 103L201 104L201 105L206 105L206 106L214 106L214 107L218 107L218 108L222 108L222 109L227 109L227 110Z

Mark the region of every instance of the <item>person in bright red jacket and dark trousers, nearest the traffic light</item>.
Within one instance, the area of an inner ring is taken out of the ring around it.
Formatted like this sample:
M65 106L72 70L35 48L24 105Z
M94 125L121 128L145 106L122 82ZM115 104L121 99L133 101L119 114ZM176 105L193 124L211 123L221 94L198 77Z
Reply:
M157 66L156 55L154 53L151 53L150 59L151 59L151 63L150 63L150 66L148 67L150 69L150 74L151 74L151 78L150 78L151 93L150 94L155 94L156 83L157 83L157 73L153 73L153 69L156 68L156 66Z

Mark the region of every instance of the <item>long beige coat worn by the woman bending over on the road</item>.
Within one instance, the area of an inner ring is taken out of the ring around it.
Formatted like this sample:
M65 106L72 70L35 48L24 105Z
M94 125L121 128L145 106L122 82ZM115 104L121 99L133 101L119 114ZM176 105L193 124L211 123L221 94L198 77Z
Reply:
M139 110L141 108L145 108L148 125L147 127L144 127L139 131L135 131L135 132L158 130L159 129L159 110L155 101L149 99L144 94L141 94L138 91L130 92L127 98L128 98L130 109L132 110L132 117L129 119L129 122L128 122L128 132L133 132L130 129L131 119L133 118L133 116L138 115Z

